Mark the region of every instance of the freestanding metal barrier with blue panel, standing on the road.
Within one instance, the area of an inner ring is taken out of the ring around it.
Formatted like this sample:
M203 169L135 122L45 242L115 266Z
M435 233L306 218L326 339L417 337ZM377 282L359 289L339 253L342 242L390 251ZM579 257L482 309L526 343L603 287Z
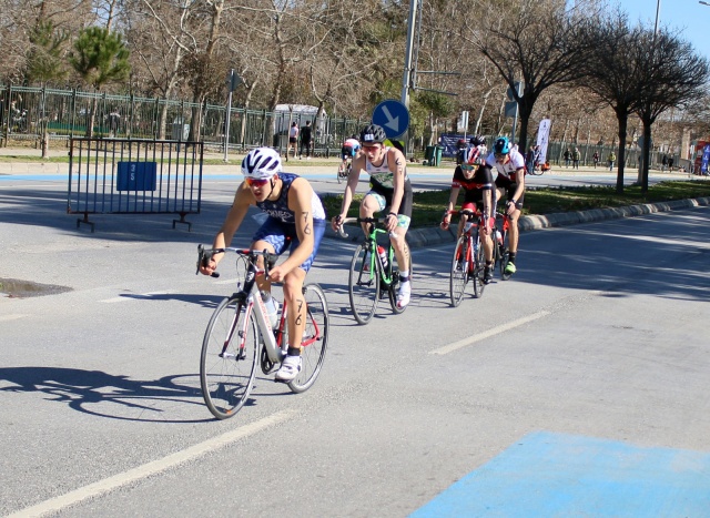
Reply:
M199 214L202 200L202 142L85 139L69 141L67 213Z

